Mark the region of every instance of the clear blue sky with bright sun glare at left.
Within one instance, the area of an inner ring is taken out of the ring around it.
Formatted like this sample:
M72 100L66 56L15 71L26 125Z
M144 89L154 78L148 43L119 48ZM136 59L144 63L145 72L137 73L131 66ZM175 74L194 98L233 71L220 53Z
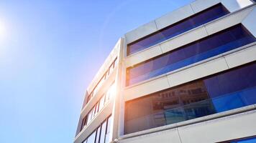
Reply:
M193 0L1 0L0 142L73 142L119 37Z

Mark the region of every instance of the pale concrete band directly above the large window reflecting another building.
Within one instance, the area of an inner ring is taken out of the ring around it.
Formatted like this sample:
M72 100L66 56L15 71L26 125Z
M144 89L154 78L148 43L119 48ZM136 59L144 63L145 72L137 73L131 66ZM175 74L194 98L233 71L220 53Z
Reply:
M256 42L124 89L124 102L256 61ZM183 78L180 78L183 77Z

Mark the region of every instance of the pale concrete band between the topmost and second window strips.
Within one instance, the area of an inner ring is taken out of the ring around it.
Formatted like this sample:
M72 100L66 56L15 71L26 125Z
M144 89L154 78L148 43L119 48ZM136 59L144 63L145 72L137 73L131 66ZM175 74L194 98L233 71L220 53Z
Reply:
M178 36L174 36L171 39L163 41L155 46L151 46L147 49L139 51L135 54L126 57L125 66L133 66L134 64L139 64L142 61L146 61L147 59L151 59L155 56L159 56L161 54L165 54L168 51L172 51L174 49L179 48L180 46L184 46L198 39L202 39L211 34L215 34L218 31L227 29L236 24L242 23L244 20L246 21L248 14L251 13L252 9L255 6L247 6L244 9L239 9L232 14L228 14L226 16L220 17L219 19L215 19L214 21L209 21L207 24L203 24L201 26L196 27L195 29L191 29L189 31L184 32ZM254 14L250 14L254 15ZM248 17L250 21L253 18ZM245 24L249 25L249 24ZM255 33L255 30L248 29L252 34ZM256 35L255 35L256 36Z

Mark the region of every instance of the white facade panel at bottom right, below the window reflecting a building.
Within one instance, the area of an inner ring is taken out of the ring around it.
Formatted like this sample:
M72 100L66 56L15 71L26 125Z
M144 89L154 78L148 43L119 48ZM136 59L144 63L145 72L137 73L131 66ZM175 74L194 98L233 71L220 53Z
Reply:
M256 134L256 111L179 127L183 143L223 142Z

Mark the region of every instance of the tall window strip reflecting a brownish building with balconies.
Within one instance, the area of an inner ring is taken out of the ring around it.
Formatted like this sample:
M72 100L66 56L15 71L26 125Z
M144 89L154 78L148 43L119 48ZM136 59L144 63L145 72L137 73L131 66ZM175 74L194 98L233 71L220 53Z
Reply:
M125 134L256 104L256 62L125 103Z

